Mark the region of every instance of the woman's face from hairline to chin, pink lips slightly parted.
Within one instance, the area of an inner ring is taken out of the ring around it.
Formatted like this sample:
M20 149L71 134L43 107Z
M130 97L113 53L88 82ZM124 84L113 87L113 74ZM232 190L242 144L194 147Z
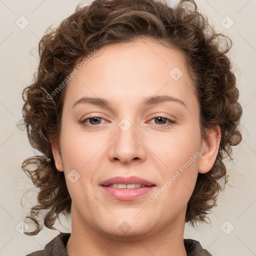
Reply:
M138 40L105 46L78 66L66 85L61 158L54 149L72 199L72 228L76 221L125 236L184 224L203 140L183 55ZM142 186L119 188L125 183Z

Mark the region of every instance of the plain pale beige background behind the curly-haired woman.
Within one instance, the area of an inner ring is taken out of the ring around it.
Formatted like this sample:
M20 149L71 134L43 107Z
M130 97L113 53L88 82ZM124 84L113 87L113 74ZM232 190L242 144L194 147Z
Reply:
M21 207L22 194L32 186L20 166L23 159L36 151L30 147L26 132L16 124L21 119L21 91L37 69L39 38L49 25L56 25L70 15L78 3L78 0L0 0L0 255L22 256L42 249L58 234L47 228L35 236L18 231L22 230L18 229L20 221L36 198L36 192L24 194L25 206ZM226 161L230 185L226 185L218 207L209 214L211 225L203 224L197 229L186 226L184 237L199 240L213 256L252 256L256 255L256 0L196 0L196 3L215 28L233 40L230 53L243 107L243 140L233 149L233 162ZM20 18L22 15L25 18ZM230 26L232 20L234 24ZM29 24L21 29L25 22ZM55 226L62 232L70 232L70 219L62 218L61 223Z

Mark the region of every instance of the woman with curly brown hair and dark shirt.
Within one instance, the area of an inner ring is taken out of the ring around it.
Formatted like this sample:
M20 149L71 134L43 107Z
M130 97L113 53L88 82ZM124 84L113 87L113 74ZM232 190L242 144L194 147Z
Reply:
M241 141L221 37L192 0L95 0L46 31L22 95L42 153L22 164L40 189L24 233L44 209L72 230L29 256L211 255L183 232L206 222Z

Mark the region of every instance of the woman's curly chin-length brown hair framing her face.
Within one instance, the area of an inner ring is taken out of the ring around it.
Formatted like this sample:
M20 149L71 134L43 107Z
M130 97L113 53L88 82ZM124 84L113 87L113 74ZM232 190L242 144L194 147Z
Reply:
M231 39L214 30L193 0L180 0L174 7L166 0L94 0L90 5L78 4L74 13L56 28L48 27L38 43L38 70L32 84L22 91L22 116L28 139L42 153L25 159L21 166L39 188L38 204L26 216L36 228L25 234L34 235L41 230L39 212L47 210L43 223L56 229L53 224L59 214L68 214L71 209L64 172L55 167L49 139L55 134L59 143L66 86L54 96L52 91L70 74L77 60L95 48L137 38L150 38L183 52L200 103L202 137L204 128L220 126L214 165L210 171L198 173L185 215L185 222L192 226L207 222L205 215L216 205L218 193L223 190L221 181L223 185L227 182L223 159L226 155L231 158L231 146L241 141L238 126L242 109L237 102L239 92L232 64L226 55Z

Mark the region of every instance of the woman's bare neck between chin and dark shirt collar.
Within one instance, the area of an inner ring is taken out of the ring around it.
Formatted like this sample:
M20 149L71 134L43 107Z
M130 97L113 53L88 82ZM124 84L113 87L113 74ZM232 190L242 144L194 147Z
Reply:
M72 208L73 211L73 208ZM183 244L184 215L166 227L158 227L144 235L133 235L132 227L126 234L109 235L95 230L72 212L72 231L66 244L68 256L186 256ZM82 224L81 224L82 223Z

